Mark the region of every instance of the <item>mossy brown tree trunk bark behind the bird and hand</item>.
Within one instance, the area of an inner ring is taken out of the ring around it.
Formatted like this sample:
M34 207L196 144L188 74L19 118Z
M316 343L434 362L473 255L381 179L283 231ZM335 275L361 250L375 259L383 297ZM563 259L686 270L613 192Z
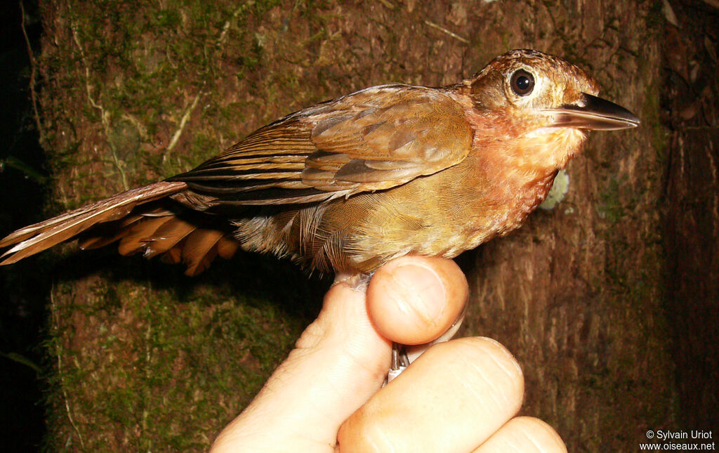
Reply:
M366 86L454 83L518 47L582 66L642 126L590 134L562 203L459 257L472 283L463 332L516 354L523 413L570 451L634 451L648 429L681 426L662 245L661 2L47 0L41 10L47 214L188 170L283 114ZM114 250L67 246L45 259L50 449L206 449L329 286L249 254L196 279Z

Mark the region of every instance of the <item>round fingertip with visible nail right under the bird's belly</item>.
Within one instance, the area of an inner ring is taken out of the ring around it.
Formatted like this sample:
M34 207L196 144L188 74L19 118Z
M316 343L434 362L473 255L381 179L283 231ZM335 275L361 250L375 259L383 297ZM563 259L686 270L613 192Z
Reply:
M372 276L367 312L383 337L400 344L422 344L452 326L469 293L467 278L454 261L406 256Z

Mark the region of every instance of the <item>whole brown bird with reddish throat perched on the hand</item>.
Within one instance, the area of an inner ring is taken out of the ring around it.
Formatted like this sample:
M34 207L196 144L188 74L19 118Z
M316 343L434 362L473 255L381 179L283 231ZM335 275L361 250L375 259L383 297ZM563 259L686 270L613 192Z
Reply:
M193 170L0 240L8 265L78 237L205 270L237 250L310 272L371 275L416 254L452 258L523 224L589 130L639 119L584 70L511 50L431 88L372 86L296 111Z

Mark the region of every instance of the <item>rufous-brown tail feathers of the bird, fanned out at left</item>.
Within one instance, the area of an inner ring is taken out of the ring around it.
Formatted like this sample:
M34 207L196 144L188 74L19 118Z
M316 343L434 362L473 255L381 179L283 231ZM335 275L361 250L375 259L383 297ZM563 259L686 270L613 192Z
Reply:
M80 247L93 249L119 240L119 252L184 262L188 275L204 270L216 255L231 257L239 244L226 228L202 228L160 202L187 188L181 181L150 184L24 227L0 240L14 246L0 258L9 265L55 244L80 237ZM157 201L158 203L152 203ZM180 206L173 203L175 207Z

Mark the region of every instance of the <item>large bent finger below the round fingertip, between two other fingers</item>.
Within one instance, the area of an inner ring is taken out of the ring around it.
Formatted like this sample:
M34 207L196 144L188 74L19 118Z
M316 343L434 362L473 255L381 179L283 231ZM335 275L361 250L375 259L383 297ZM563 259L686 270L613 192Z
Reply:
M342 453L469 452L519 410L521 369L501 344L436 344L340 428Z

